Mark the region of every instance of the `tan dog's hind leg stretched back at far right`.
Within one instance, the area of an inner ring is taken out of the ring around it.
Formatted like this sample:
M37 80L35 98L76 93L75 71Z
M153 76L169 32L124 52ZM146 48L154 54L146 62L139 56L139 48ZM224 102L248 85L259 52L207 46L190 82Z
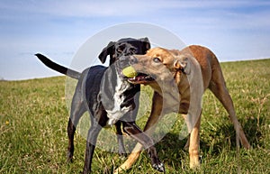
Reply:
M223 78L220 66L213 70L212 78L210 82L210 90L211 92L220 100L221 104L225 107L227 112L229 113L229 118L234 125L234 128L237 133L237 139L239 138L241 144L249 149L250 145L247 141L247 137L242 129L242 126L238 123L238 119L235 113L234 105L231 97L229 96L229 91L226 87L225 80ZM238 140L237 140L238 146Z

